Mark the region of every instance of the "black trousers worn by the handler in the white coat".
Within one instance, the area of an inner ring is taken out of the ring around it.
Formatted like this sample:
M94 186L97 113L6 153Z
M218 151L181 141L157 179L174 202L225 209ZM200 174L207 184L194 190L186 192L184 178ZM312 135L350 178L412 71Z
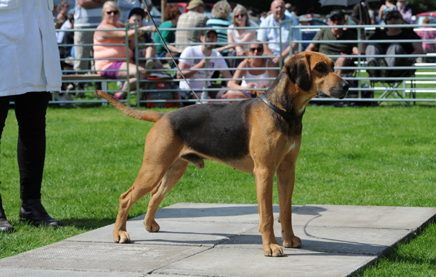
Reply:
M0 140L8 116L10 96L0 97ZM46 111L49 92L15 96L18 122L17 161L21 199L40 199L46 158Z

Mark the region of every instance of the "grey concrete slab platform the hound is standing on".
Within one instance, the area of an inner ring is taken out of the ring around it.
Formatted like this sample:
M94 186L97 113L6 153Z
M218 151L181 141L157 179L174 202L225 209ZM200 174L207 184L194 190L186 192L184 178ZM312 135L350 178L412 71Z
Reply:
M278 219L279 208L274 206ZM307 205L293 207L301 249L264 257L257 205L179 203L127 222L130 244L115 244L113 224L0 260L0 276L352 276L419 233L436 208ZM282 243L280 224L275 236Z

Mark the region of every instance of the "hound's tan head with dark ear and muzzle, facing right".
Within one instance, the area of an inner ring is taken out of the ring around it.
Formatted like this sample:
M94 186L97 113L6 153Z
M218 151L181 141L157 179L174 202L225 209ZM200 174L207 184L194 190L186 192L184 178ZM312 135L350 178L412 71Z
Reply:
M327 55L302 52L283 66L283 73L300 90L314 93L312 97L339 98L347 95L349 84L334 73L334 62Z

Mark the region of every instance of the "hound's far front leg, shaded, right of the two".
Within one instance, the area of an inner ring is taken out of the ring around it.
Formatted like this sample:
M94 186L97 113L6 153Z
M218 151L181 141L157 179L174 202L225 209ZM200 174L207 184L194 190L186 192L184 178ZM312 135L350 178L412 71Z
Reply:
M298 149L291 152L280 163L277 170L277 187L280 203L279 222L282 224L282 238L284 247L301 247L300 238L293 234L292 229L292 193L296 179L296 160Z

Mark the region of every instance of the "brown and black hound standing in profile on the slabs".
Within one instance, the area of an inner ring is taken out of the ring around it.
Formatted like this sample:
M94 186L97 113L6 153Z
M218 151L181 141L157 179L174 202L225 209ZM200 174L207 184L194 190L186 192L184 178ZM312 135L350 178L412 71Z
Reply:
M342 99L348 88L349 84L334 73L334 62L327 55L303 52L284 65L263 99L190 105L159 113L139 111L98 91L123 114L156 123L147 134L138 177L120 196L113 241L129 242L126 231L129 209L147 193L151 197L145 229L159 231L154 216L165 194L181 179L188 163L204 168L204 160L209 159L255 175L265 256L283 256L273 231L273 177L277 174L283 246L301 247L291 223L301 118L311 98Z

